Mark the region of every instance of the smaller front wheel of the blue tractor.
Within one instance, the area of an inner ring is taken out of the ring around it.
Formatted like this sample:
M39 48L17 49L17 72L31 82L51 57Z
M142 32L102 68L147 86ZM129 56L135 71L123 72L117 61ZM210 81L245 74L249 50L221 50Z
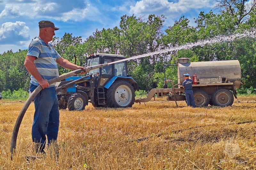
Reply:
M68 110L84 110L85 104L85 97L80 93L75 93L68 99Z

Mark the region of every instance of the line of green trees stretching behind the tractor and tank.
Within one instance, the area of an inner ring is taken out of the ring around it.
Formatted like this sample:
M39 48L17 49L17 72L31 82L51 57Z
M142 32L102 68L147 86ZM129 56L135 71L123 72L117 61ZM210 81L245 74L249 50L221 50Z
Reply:
M166 28L164 15L121 17L119 27L102 30L96 29L85 41L72 33L65 33L62 38L54 37L52 44L60 55L77 65L85 63L86 54L115 53L132 57L158 50L178 47L218 35L232 35L256 26L256 0L216 0L214 7L218 12L201 11L194 18L196 26L185 16ZM256 89L256 39L242 38L228 42L195 46L131 60L129 74L138 82L140 90L162 88L164 84L164 64L175 64L180 57L193 61L239 60L242 79L245 85L241 93ZM0 55L0 91L28 90L30 74L24 67L27 50L12 50ZM228 68L227 68L228 69ZM59 67L60 74L69 72ZM167 67L166 77L177 82L177 68Z

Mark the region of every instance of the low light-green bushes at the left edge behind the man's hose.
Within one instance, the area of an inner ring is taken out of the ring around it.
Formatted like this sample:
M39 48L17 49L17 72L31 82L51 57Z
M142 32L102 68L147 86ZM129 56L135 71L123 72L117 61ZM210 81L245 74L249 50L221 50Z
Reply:
M10 89L2 91L3 99L27 99L28 96L28 92L23 89L13 90L13 92Z

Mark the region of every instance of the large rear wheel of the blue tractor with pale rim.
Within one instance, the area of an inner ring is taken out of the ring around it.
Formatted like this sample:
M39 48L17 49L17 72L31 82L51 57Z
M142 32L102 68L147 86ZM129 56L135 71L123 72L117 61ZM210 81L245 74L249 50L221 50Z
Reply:
M132 107L135 100L134 89L127 81L116 81L108 89L107 100L112 108Z

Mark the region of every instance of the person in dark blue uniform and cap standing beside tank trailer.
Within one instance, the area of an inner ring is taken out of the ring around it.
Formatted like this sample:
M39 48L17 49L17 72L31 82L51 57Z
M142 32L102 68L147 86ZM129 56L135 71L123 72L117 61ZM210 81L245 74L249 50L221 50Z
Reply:
M182 83L182 87L185 89L185 95L186 95L186 100L187 100L187 105L191 106L193 108L196 107L195 105L195 99L194 99L194 94L193 94L193 90L192 90L192 80L190 78L189 74L183 74L185 76L185 81L183 81Z

